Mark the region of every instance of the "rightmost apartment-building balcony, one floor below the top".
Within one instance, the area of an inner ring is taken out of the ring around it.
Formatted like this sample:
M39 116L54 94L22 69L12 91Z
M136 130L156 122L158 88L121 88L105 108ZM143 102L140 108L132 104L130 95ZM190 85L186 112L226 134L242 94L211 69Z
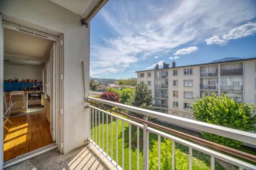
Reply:
M243 77L221 77L221 90L243 91Z

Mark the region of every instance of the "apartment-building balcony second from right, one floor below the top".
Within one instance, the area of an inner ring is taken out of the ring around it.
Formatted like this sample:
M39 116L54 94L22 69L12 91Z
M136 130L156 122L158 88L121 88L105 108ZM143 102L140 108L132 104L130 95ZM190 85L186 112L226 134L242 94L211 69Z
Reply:
M200 90L218 90L218 78L200 78Z

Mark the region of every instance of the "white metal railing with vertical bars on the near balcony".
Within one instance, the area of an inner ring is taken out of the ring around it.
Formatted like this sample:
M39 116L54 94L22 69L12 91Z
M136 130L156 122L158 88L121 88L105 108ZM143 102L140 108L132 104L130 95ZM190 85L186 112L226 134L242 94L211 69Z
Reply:
M165 137L167 139L172 140L172 160L170 160L170 162L172 162L172 169L175 169L175 143L181 143L189 148L189 153L188 153L189 170L192 169L192 152L193 152L193 150L200 151L200 152L205 153L210 156L210 158L211 158L210 159L210 169L215 169L215 159L216 158L226 161L226 162L229 162L233 165L236 165L239 167L239 169L256 169L255 165L252 165L252 164L242 161L240 159L236 159L236 158L230 157L228 155L222 154L220 152L211 150L209 148L202 147L202 145L195 144L193 142L170 135L169 133L166 133L163 131L159 131L153 127L147 127L148 124L147 124L146 120L147 120L147 116L152 116L152 117L156 117L156 118L165 120L165 122L167 121L167 122L176 123L176 124L180 123L180 125L182 125L182 126L218 134L221 136L229 137L232 139L240 140L240 141L247 142L247 143L254 144L254 145L256 144L256 134L244 132L244 131L240 131L240 130L235 130L235 129L231 129L231 128L226 128L226 127L221 127L221 126L217 126L217 125L202 123L202 122L198 122L196 120L190 120L190 119L186 119L186 118L182 118L182 117L178 117L178 116L167 115L164 113L159 113L159 112L141 109L141 108L137 108L137 107L133 107L133 106L123 105L120 103L105 101L105 100L101 100L101 99L97 99L97 98L89 97L89 99L90 99L90 101L99 102L101 104L118 107L121 109L129 110L129 111L140 113L140 114L144 115L145 121L143 123L138 123L138 122L135 122L134 120L130 120L123 116L119 116L119 115L111 113L109 111L105 111L98 107L89 105L89 107L91 108L90 109L90 120L91 120L90 127L92 129L90 141L118 169L124 169L124 137L125 137L124 136L124 123L129 124L129 136L128 136L129 137L129 147L128 147L129 148L129 167L128 168L125 167L125 169L132 169L132 164L131 164L131 159L132 159L131 158L131 126L132 125L137 127L137 132L139 132L140 129L143 129L143 162L140 162L140 155L139 155L140 154L140 148L139 148L140 140L139 140L139 133L137 133L137 164L138 164L137 169L139 169L140 164L143 164L143 169L148 169L148 152L149 152L149 144L150 144L149 138L148 138L149 133L154 133L154 134L158 135L158 169L160 169L160 167L161 167L160 166L160 164L161 164L161 160L160 160L160 158L161 158L160 157L161 137ZM104 117L106 117L106 118L104 119ZM106 126L106 131L104 131L104 126L103 126L104 124L109 124L109 119L108 119L109 117L111 119L110 132L108 130L108 126ZM122 122L122 127L121 127L121 129L122 129L122 146L118 145L118 133L116 133L116 136L113 136L113 124L114 124L113 118L115 118L115 121L116 121L116 132L118 132L118 122L119 121ZM105 122L104 122L104 120L105 120ZM104 132L106 134L104 134ZM108 137L104 137L104 136L109 136L108 133L111 133L110 134L110 138L111 138L110 145L111 146L109 146ZM114 137L116 138L115 160L113 159L113 138ZM104 138L106 139L106 142L104 142ZM106 146L104 146L104 144L106 144ZM122 147L121 154L118 153L118 147ZM109 149L111 150L110 152L108 151ZM121 159L122 163L119 163L119 161L118 161L119 157L122 158Z

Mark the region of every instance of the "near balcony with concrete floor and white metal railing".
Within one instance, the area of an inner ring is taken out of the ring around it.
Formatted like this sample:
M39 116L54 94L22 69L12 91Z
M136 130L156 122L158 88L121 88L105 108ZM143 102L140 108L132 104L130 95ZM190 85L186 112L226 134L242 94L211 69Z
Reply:
M90 129L88 129L90 138L87 140L89 144L65 155L60 155L54 150L38 155L30 159L35 167L38 169L152 169L150 162L155 160L154 169L161 169L163 161L161 155L165 154L161 143L168 141L170 143L168 162L171 169L179 169L178 164L185 164L186 169L191 170L202 162L205 164L204 169L256 169L255 164L250 163L256 161L254 155L149 122L147 117L151 116L167 123L256 145L254 133L98 98L88 99L90 100L88 101L90 105L87 106L90 108ZM144 118L113 110L112 107L139 113ZM163 141L163 138L166 140ZM154 151L153 145L156 149ZM154 158L152 152L155 153ZM185 159L178 160L179 155L183 155Z

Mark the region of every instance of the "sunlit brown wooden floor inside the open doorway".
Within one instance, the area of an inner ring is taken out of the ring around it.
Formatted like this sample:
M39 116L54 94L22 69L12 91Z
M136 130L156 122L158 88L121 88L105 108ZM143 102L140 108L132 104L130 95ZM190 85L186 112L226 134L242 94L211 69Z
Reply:
M4 132L4 161L53 143L45 112L11 117Z

